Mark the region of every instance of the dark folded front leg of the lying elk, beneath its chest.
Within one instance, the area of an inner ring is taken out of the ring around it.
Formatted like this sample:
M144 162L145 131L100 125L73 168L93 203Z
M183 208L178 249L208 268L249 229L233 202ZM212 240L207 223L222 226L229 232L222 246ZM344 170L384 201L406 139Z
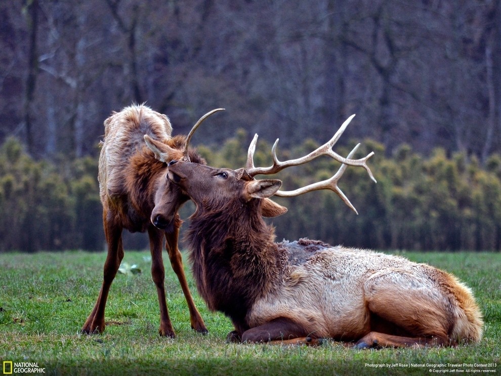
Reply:
M263 325L245 330L242 334L242 342L268 342L299 344L312 342L307 329L286 317L278 317ZM310 339L311 341L308 341ZM299 342L298 342L299 341Z

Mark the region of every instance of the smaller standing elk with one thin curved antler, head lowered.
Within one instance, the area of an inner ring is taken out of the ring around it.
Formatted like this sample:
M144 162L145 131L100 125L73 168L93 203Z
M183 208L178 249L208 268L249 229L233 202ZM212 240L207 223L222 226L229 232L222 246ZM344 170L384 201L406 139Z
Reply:
M207 332L191 297L178 249L181 220L177 211L189 197L166 179L166 172L167 163L174 159L185 158L192 163L204 163L196 151L188 149L189 139L206 117L219 110L202 116L188 137L171 137L169 119L144 105L126 107L105 120L98 177L108 256L99 297L82 332L102 332L105 328L104 312L108 292L123 258L122 229L148 231L151 275L160 305L160 335L175 337L165 300L163 237L172 268L188 303L191 327L201 333ZM155 145L157 153L153 153L147 143ZM158 211L162 212L161 216L155 214Z

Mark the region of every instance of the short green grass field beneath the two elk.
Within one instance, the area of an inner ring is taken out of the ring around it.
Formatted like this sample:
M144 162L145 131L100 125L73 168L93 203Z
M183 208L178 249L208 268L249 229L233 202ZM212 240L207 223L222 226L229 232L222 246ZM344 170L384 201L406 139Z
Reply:
M80 327L99 292L106 255L14 253L0 254L0 363L37 363L45 368L44 374L54 375L485 374L486 370L499 374L501 254L404 255L448 270L473 288L485 316L480 344L363 351L333 342L316 348L227 344L230 321L206 310L188 272L191 291L210 333L202 336L191 330L186 302L169 265L167 298L177 338L160 338L147 252L126 252L124 262L138 265L142 273L117 275L108 300L106 321L110 324L105 332L81 335Z

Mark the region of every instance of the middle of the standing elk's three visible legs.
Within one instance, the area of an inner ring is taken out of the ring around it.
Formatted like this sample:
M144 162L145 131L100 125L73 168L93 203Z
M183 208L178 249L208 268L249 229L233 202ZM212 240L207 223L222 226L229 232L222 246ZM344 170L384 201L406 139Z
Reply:
M151 277L156 286L158 295L158 305L160 306L160 328L158 333L162 337L176 337L174 327L172 326L169 310L167 308L167 300L165 298L165 269L162 259L162 237L163 233L153 226L148 228L150 237L150 252L151 252Z

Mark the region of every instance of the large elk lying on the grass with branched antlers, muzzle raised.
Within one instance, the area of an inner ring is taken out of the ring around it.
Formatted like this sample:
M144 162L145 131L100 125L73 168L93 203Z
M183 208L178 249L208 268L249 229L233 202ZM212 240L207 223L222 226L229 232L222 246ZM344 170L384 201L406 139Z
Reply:
M275 143L268 168L254 166L256 137L244 169L169 163L169 179L196 204L187 239L200 295L208 308L230 317L235 330L228 339L237 342L330 338L371 348L479 341L479 308L471 290L451 274L321 241L274 242L274 228L260 214L263 199L331 189L353 208L337 185L346 166L362 166L373 179L366 164L373 153L351 159L358 145L347 158L331 150L351 118L327 144L302 158L280 162ZM280 180L254 179L324 154L342 163L327 181L281 192Z

